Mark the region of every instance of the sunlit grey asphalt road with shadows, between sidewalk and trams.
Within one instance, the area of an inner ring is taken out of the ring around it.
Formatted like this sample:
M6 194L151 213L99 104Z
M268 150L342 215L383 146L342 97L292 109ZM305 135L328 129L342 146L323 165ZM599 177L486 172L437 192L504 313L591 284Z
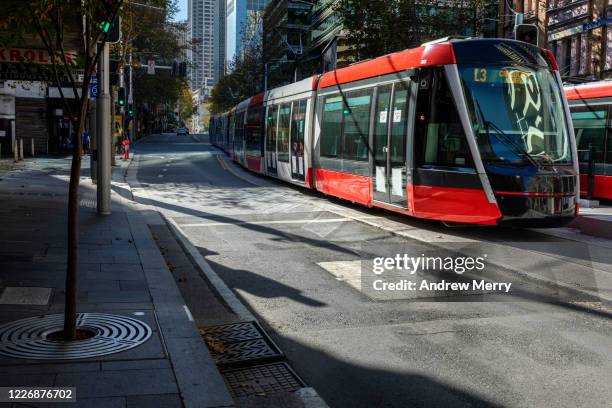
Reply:
M533 280L597 291L611 272L605 246L328 200L190 137L152 136L135 151L137 199L181 226L331 407L610 406L612 308ZM359 261L397 248L486 253L487 278L513 282L512 297L376 298Z

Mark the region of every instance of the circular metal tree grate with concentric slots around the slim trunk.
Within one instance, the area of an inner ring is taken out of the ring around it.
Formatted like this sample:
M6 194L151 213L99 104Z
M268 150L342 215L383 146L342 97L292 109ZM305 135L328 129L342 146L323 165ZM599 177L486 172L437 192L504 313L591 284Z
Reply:
M63 329L64 315L30 317L0 326L0 354L33 360L90 358L134 348L151 337L151 327L130 317L79 313L77 326L95 336L73 342L48 339Z

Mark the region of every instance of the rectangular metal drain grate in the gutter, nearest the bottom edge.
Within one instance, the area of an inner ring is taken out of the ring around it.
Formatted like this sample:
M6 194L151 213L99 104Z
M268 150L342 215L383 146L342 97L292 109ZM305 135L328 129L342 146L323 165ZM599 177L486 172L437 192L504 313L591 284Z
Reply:
M304 387L304 382L287 363L226 369L221 371L221 375L233 398L265 397L283 392L294 392Z

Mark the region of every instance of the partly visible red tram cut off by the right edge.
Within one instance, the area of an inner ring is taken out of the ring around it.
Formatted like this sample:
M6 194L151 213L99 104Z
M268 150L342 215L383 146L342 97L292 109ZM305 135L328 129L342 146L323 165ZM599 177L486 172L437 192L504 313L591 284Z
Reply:
M592 145L593 198L612 200L612 81L568 86L565 95L578 145L581 194L587 194L588 150Z

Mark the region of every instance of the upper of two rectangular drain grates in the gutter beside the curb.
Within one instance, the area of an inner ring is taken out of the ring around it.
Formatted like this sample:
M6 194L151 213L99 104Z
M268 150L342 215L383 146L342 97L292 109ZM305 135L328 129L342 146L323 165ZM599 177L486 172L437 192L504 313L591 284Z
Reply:
M283 358L278 346L255 322L203 327L200 333L219 366L239 367Z

